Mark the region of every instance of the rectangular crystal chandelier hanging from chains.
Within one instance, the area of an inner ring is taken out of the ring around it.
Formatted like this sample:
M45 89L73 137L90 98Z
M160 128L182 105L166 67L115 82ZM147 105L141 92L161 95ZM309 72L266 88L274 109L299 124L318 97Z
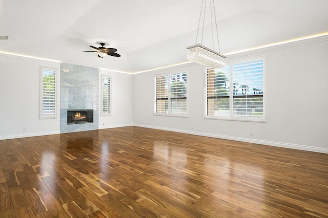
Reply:
M202 45L203 35L204 35L204 23L205 23L205 14L206 14L206 4L210 2L210 11L211 11L211 27L212 27L212 44L213 50L209 49ZM213 7L212 7L213 5ZM213 12L213 14L212 14ZM198 32L200 27L200 21L203 14L203 24L202 24L202 32L201 32L201 43L197 43ZM214 51L214 31L213 31L213 15L215 20L215 27L216 27L216 36L217 36L217 43L218 43L218 51ZM187 59L193 62L202 64L203 66L210 67L210 68L224 68L226 67L226 58L225 56L220 54L220 42L219 42L219 35L217 31L217 23L216 23L216 15L215 15L215 6L214 0L202 0L201 8L200 8L200 15L198 21L198 29L196 34L196 45L187 47Z

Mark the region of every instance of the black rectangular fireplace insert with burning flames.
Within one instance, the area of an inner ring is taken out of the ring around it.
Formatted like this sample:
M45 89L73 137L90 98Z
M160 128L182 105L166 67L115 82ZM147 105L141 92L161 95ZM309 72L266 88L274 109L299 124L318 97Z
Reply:
M93 110L67 110L67 124L93 123Z

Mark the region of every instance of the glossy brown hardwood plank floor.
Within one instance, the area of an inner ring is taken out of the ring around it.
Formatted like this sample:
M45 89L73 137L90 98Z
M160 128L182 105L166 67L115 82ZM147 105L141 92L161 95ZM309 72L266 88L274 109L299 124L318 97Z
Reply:
M328 155L122 127L0 141L0 217L328 217Z

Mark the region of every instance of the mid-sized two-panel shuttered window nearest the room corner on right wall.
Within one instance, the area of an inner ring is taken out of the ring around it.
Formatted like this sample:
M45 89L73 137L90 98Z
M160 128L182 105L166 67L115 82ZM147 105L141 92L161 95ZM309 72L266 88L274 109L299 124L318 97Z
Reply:
M156 115L188 116L187 72L155 76Z

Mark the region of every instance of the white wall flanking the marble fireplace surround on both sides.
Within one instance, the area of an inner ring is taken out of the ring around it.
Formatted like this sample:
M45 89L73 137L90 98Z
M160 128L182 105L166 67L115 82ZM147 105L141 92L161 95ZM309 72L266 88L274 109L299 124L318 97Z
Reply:
M56 119L39 119L40 66L57 69ZM112 115L99 116L99 128L133 125L133 76L107 70L101 74L112 77ZM98 90L100 96L100 76ZM59 134L60 63L0 54L0 102L0 140Z

